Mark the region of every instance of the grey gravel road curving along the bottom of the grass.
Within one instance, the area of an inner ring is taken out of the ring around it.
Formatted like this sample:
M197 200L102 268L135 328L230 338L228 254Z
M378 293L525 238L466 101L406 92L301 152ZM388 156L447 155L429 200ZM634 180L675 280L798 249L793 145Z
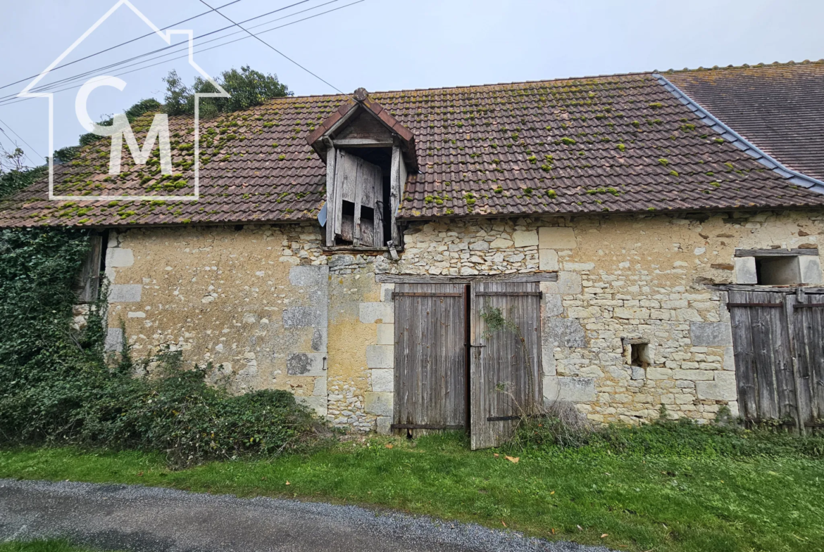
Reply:
M355 506L0 480L0 542L51 537L135 552L609 552Z

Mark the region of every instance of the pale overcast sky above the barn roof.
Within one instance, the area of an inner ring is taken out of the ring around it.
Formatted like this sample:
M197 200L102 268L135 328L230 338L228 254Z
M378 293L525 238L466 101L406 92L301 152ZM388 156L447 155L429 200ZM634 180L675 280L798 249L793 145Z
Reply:
M218 7L231 0L206 1ZM221 11L241 21L297 3L244 26L258 26L253 32L259 32L315 16L271 30L261 38L346 92L360 86L398 90L824 58L821 0L353 2L357 0L240 0ZM0 86L21 81L0 89L0 128L6 132L0 132L0 142L4 146L11 145L11 137L38 162L49 153L48 101L5 96L19 93L28 77L48 67L114 4L115 0L0 0ZM133 0L133 4L159 27L208 11L199 0ZM316 16L335 8L340 9ZM277 18L283 19L274 21ZM176 28L203 35L228 25L210 13ZM120 7L63 63L147 32L149 28L138 16ZM238 34L227 36L230 32ZM205 49L245 36L234 28L196 44L218 38L200 47ZM181 53L150 59L160 55L156 53L129 62L130 67L100 70L165 45L152 35L56 69L42 82L88 72L82 80L59 87L65 88L79 86L90 77L120 75L127 83L122 92L100 88L91 94L89 114L97 120L123 112L143 98L162 100L161 79L171 69L192 81L194 69L185 58L167 61ZM197 51L196 47L195 61L212 75L250 65L276 73L296 95L335 92L256 39ZM132 65L138 62L143 63ZM131 72L155 63L160 64ZM72 88L54 96L55 148L76 144L84 132L75 116L76 95L77 88Z

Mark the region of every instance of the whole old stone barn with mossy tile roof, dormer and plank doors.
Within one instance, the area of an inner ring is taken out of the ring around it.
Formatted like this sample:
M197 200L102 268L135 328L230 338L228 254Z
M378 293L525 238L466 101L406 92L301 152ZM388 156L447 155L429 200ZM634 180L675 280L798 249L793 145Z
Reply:
M481 448L569 401L806 431L822 100L824 63L288 97L201 121L199 150L171 118L174 174L86 146L55 166L65 199L37 183L0 225L91 230L108 350L182 350L337 426Z

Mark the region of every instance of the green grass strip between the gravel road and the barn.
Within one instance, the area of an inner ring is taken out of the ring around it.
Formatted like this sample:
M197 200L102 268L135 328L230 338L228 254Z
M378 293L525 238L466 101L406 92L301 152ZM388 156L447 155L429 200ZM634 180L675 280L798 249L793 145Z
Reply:
M308 457L179 471L141 452L12 448L0 450L0 477L358 503L616 550L824 550L824 461L800 455L579 448L524 453L513 463L470 452L456 435L370 437Z

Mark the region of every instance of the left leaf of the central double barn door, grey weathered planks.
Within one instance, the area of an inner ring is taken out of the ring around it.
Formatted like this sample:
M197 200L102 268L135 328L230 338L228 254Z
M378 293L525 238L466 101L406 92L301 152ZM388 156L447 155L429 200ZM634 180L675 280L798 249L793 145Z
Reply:
M397 284L395 424L414 437L466 428L466 286Z

